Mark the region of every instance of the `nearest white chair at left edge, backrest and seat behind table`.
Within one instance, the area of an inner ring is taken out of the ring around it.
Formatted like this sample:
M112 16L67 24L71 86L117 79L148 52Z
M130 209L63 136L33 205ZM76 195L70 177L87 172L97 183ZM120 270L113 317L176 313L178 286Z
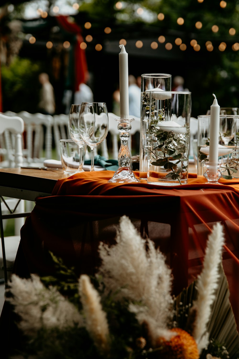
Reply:
M9 131L10 137L14 136L14 162L15 167L20 167L23 164L22 153L22 135L24 131L24 122L20 117L5 116L0 113L0 134L3 135ZM20 228L24 224L24 218L27 213L24 213L24 201L18 199L9 199L3 196L0 201L0 274L4 272L5 284L7 284L9 275L8 271L12 270L16 252L20 242ZM10 214L6 214L10 212ZM15 218L15 236L6 237L4 241L4 227L3 219ZM5 243L6 242L6 243ZM1 275L0 275L1 276ZM3 278L3 276L1 276Z

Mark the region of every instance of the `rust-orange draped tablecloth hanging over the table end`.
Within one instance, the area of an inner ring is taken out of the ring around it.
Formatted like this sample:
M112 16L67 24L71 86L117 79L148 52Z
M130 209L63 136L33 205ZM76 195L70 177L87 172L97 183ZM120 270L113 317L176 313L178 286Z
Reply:
M144 180L107 183L112 176L112 171L75 174L58 180L52 196L39 197L21 229L14 272L52 274L52 251L78 274L93 274L99 241L114 243L115 227L125 214L167 256L177 294L200 273L208 234L221 222L223 266L239 326L239 180L209 185L190 174L188 185L166 187Z

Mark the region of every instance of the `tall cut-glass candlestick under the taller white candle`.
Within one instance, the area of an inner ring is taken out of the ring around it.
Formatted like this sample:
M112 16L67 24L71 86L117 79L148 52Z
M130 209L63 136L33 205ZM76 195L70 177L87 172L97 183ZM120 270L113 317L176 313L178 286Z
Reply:
M119 168L115 171L114 176L108 181L111 183L140 182L130 169L130 152L128 147L129 131L131 122L134 118L115 118L118 121L118 130L120 132L120 149L118 154Z

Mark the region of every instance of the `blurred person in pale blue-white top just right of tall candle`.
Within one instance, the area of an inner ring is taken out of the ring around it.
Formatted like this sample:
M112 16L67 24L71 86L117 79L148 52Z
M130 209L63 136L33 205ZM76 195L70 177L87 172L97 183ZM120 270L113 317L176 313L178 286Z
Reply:
M141 85L140 85L141 87ZM129 75L129 115L140 117L141 89L134 75Z

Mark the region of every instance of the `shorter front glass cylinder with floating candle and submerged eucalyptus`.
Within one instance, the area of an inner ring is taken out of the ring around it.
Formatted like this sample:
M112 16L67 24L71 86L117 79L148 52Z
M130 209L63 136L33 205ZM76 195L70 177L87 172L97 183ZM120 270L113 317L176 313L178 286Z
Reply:
M147 183L186 184L191 92L150 92Z

